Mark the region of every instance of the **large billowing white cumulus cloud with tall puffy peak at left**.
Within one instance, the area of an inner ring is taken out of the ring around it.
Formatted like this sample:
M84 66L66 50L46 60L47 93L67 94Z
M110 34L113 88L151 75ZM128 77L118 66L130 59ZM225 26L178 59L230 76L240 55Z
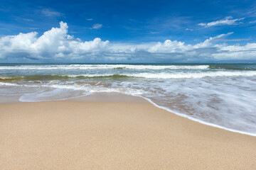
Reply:
M95 38L92 41L82 42L68 35L68 24L60 22L60 28L51 28L39 38L38 33L20 33L18 35L4 36L0 39L0 58L5 58L18 53L35 59L60 57L78 57L87 52L98 52L109 41Z

